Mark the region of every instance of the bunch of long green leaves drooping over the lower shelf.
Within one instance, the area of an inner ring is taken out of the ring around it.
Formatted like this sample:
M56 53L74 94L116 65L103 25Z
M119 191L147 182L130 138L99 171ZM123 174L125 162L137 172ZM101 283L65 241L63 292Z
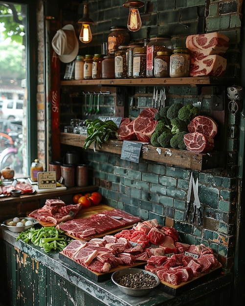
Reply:
M106 142L109 138L116 138L117 125L112 120L102 121L95 119L85 121L87 126L87 137L83 148L88 149L93 144L93 151L95 152L96 146L101 148L102 143Z

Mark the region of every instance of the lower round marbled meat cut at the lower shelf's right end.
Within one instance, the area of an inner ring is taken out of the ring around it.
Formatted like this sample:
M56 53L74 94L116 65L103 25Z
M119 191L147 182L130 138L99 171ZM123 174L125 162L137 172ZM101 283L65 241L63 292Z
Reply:
M214 139L199 132L184 135L186 149L195 153L208 153L214 149Z

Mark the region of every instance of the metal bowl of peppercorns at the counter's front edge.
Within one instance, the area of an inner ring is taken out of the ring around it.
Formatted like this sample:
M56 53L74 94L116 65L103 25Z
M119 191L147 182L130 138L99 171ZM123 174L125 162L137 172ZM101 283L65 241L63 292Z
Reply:
M111 281L123 292L131 296L142 296L151 292L160 284L159 278L152 272L128 268L115 271Z

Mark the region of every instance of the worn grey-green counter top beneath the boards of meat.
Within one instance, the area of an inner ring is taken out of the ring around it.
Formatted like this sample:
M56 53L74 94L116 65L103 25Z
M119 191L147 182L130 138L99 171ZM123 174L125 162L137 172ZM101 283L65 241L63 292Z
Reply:
M23 243L20 240L16 241L17 236L18 234L12 233L8 230L0 230L0 238L20 249L22 252L34 258L36 261L42 262L42 264L44 264L47 268L108 306L184 305L189 304L190 302L199 298L203 299L205 294L211 294L211 292L222 289L232 282L232 274L219 274L216 277L210 276L210 278L208 278L208 280L205 282L202 282L201 284L198 284L195 287L176 296L164 292L161 285L154 289L150 295L145 297L127 296L119 291L117 286L113 284L111 280L97 283L90 279L87 275L60 260L59 253L44 253L40 248L34 245Z

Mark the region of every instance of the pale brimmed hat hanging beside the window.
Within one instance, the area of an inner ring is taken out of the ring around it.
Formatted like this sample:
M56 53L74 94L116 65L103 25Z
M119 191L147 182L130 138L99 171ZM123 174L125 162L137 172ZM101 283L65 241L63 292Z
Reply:
M76 58L79 44L72 24L67 24L56 32L52 47L63 63L70 63Z

